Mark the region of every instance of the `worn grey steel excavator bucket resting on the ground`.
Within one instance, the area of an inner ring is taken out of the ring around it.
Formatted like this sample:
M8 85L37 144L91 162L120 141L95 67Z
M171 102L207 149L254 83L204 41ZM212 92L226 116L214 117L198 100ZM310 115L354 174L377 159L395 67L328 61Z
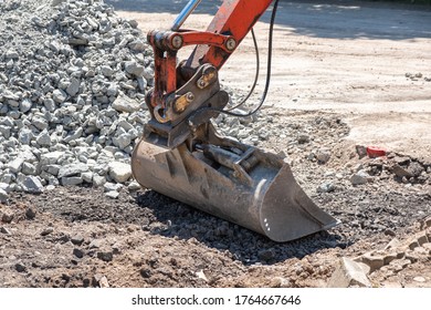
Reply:
M208 131L208 128L207 128ZM285 159L220 137L167 148L144 136L132 170L144 187L267 236L290 241L338 221L318 208L296 183Z

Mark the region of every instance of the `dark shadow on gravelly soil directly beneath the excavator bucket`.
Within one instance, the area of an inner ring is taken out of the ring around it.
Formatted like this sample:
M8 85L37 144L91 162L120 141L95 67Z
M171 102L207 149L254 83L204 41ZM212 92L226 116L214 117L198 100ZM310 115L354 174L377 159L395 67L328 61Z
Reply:
M156 223L164 225L148 225L154 235L168 238L190 240L195 238L207 247L220 251L230 251L233 259L244 265L273 265L290 258L298 258L325 248L347 246L338 235L320 231L312 236L277 244L260 234L228 223L183 205L154 190L147 190L137 196L140 207L148 208L156 218Z

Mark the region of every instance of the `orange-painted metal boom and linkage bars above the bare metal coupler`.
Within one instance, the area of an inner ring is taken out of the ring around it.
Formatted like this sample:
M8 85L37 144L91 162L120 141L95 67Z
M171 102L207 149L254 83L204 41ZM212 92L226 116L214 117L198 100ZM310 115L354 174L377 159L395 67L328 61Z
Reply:
M225 0L207 31L150 31L148 42L153 45L155 54L155 87L150 106L165 107L167 95L177 90L177 51L181 46L197 45L187 62L182 64L189 72L193 72L204 63L220 69L272 1ZM175 44L176 37L180 37L181 44ZM234 46L228 49L227 42L230 39L234 40Z

